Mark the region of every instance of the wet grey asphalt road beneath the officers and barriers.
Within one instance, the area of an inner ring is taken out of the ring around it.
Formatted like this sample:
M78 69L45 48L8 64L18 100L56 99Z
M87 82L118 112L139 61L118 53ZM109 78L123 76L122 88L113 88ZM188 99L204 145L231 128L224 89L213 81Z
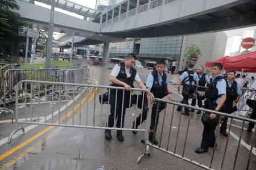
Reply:
M109 73L111 69L108 67L90 67L92 77L97 80L98 84L109 84ZM146 80L148 70L139 70L141 79L143 82ZM172 76L168 74L170 80L173 83L177 82L177 75ZM172 99L180 101L181 96L176 91L176 86L171 85ZM97 94L101 94L99 89ZM86 94L85 94L86 95ZM98 99L96 96L96 101ZM78 104L79 101L76 101ZM89 102L88 102L89 103ZM98 104L97 104L98 106ZM57 105L52 106L57 109ZM42 112L47 113L48 107ZM68 111L65 111L68 112ZM86 114L86 106L84 105L84 111L82 112L82 124L92 125L92 115ZM138 112L138 111L137 111ZM125 127L130 128L132 122L138 114L134 108L127 109L125 118ZM89 103L88 113L93 113L93 101ZM101 108L96 107L96 121L95 124L104 127L109 114L108 105L103 105L102 113ZM75 114L75 124L78 123L79 114ZM86 115L89 115L88 117ZM161 147L167 147L168 133L170 130L170 122L172 116L172 105L168 105L166 115L161 112L158 125L158 133L156 137L160 139L163 125L163 139L161 141ZM10 115L1 115L0 120L10 120ZM179 128L179 120L180 128ZM188 117L183 116L180 112L174 111L174 117L171 127L170 145L168 150L174 152L175 143L177 142L176 154L183 153L184 138L188 125ZM88 121L89 120L89 121ZM69 122L72 120L69 119ZM236 155L238 140L241 133L241 122L234 122L231 131L233 133L229 138L228 150L226 152L226 158L224 162L224 169L232 169L234 163L234 155ZM27 127L28 125L22 125ZM144 128L145 122L142 125ZM247 128L247 125L244 126ZM14 129L14 125L10 122L0 124L0 140L8 137L11 131ZM27 131L24 135L20 135L15 138L11 144L3 144L0 146L0 156L9 152L22 142L26 142L32 136L38 134L40 131L46 129L47 126L38 126L30 131ZM179 135L177 137L177 131L179 129ZM195 113L191 113L191 120L189 122L189 131L187 145L184 150L184 156L189 159L193 159L196 162L200 162L209 165L212 158L212 148L205 154L196 154L195 148L200 145L201 134L203 132L203 125L200 121L200 116ZM139 155L144 151L144 145L141 143L141 139L144 139L144 133L138 132L136 135L131 131L124 131L124 142L119 142L115 137L115 131L112 131L112 140L106 141L104 139L104 130L98 129L81 129L81 128L63 128L55 127L48 130L46 133L40 135L34 141L28 143L24 147L20 147L18 150L6 156L0 162L1 169L201 169L196 165L180 160L174 156L168 155L162 151L150 148L150 157L143 158L141 163L137 164L136 160ZM238 152L238 159L236 162L236 169L244 169L247 164L247 158L249 150L245 147L246 143L251 142L253 133L247 133L243 130L242 140L244 141ZM226 137L218 135L217 148L213 159L213 168L219 169L222 162L222 156L224 154L224 148L226 143ZM254 151L255 153L255 151ZM1 159L1 157L0 157ZM249 169L256 169L256 156L251 154L251 162Z

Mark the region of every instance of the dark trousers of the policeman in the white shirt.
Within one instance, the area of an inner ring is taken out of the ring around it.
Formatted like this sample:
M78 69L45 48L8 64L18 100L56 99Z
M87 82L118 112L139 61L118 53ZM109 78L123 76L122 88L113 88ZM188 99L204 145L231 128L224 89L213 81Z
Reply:
M126 103L126 98L127 100L129 100L129 96L125 95L125 97L123 97L123 90L117 90L117 100L115 100L115 94L116 94L116 90L114 89L110 90L110 96L109 96L110 115L109 115L108 127L113 127L114 120L117 120L117 128L123 128L123 125L125 123L124 121L125 121L125 111L126 111L125 103ZM124 98L124 103L122 102L123 98ZM116 108L115 108L115 102L117 103ZM123 103L123 109L122 109L122 103ZM121 126L121 120L122 120L122 126Z

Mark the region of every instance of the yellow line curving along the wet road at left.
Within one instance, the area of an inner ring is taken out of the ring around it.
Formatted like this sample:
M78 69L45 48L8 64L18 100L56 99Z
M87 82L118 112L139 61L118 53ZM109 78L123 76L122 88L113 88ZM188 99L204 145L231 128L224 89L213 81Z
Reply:
M94 88L92 88L92 89L88 92L88 94L87 94L87 95L85 96L85 98L81 101L81 103L78 104L79 106L80 106L80 104L84 103L84 101L88 98L88 96L92 93L93 90L94 90ZM96 90L97 90L97 88L96 88ZM96 90L94 91L94 93L93 93L92 96L95 96ZM90 97L90 100L93 99L92 96ZM69 111L69 112L66 114L67 117L70 116L70 115L73 113L73 111L76 111L77 108L79 108L79 107L76 106L74 110ZM60 121L62 122L64 119L65 119L65 117L62 117ZM56 121L56 123L59 123L59 121ZM54 127L54 126L48 126L46 129L40 131L38 134L36 134L36 135L34 135L33 137L27 139L27 141L24 141L24 142L21 143L20 145L13 147L13 148L12 148L11 150L9 150L9 151L6 151L4 154L0 155L0 160L5 159L7 156L13 154L15 151L17 151L17 150L19 150L20 148L22 148L22 147L28 145L28 143L34 141L36 138L40 137L41 135L43 135L43 134L46 133L47 131L51 130L53 127Z

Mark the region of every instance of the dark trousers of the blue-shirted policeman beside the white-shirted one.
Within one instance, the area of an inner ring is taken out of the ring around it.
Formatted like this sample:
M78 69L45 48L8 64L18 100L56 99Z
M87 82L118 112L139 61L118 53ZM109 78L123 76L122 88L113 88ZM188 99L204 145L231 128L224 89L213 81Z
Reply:
M163 109L164 109L164 105L162 103L154 104L154 106L152 107L150 129L153 129L154 131L156 131L158 127L159 113ZM136 118L136 124L135 124L136 128L142 123L141 117L142 117L142 122L147 118L147 104L143 105L142 114L139 114L139 116Z

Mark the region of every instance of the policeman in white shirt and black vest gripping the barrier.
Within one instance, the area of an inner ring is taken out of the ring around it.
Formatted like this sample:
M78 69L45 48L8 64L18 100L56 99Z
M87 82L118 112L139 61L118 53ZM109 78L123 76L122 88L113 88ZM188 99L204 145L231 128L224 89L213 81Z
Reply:
M123 128L125 122L125 111L126 108L129 107L130 91L131 88L134 87L134 80L138 83L139 87L146 89L141 79L139 78L136 69L134 68L136 60L137 57L135 56L135 54L130 53L126 57L125 62L121 62L118 65L115 65L112 72L110 73L109 80L110 82L112 82L112 86L125 87L125 96L123 97L123 90L110 90L110 115L108 120L108 127L113 127L114 120L117 119L117 128ZM117 100L115 100L116 96ZM111 130L105 130L105 138L107 140L110 140L112 138ZM117 138L118 141L123 141L122 130L117 130Z

